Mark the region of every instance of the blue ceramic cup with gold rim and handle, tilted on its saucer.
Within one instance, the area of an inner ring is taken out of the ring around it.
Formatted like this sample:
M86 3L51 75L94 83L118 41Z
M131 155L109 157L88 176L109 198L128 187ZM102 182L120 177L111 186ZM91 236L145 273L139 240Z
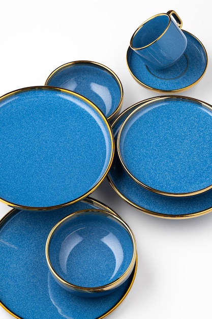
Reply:
M183 22L173 10L157 14L134 32L130 47L147 67L165 69L184 54L187 38L181 31Z

